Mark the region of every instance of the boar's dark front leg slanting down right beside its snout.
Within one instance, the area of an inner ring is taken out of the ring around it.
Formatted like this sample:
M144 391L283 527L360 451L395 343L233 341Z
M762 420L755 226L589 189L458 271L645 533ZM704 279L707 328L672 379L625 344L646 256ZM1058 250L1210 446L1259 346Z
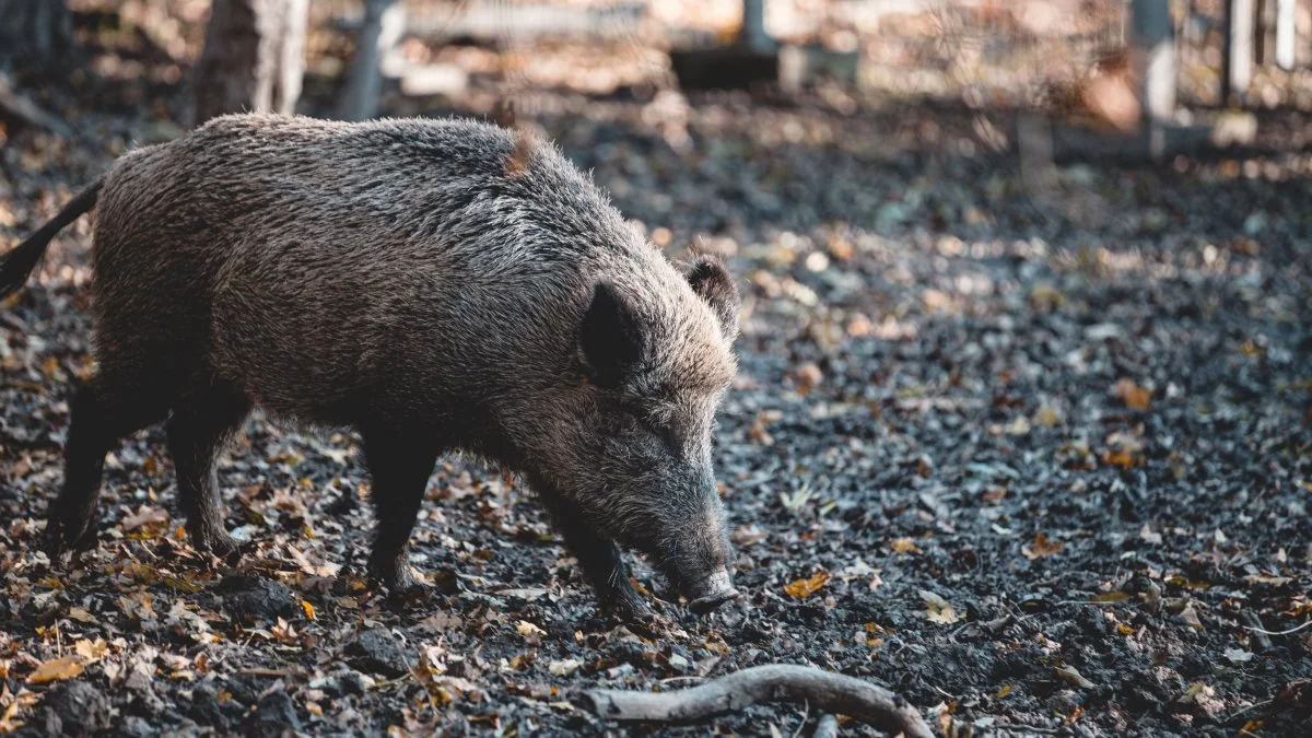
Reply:
M579 559L584 575L592 582L602 609L630 622L649 620L652 609L628 580L628 565L625 563L619 546L597 536L573 503L558 495L543 495L543 499L565 548Z

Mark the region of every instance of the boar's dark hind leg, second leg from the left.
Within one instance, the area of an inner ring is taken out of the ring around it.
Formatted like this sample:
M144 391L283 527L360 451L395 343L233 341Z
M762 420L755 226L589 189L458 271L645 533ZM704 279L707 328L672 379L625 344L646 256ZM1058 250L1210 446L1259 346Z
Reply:
M251 412L251 401L235 387L210 385L185 397L168 422L168 452L177 471L178 507L186 516L192 545L218 557L237 550L223 527L214 464Z

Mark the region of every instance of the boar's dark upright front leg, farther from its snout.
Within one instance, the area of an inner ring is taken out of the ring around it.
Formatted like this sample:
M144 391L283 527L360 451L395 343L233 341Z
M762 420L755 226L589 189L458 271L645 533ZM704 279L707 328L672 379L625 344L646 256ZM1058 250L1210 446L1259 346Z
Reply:
M415 590L417 583L407 559L411 531L424 502L428 477L438 449L424 443L424 433L396 433L362 428L365 460L373 478L370 499L378 529L369 557L369 574L392 592Z

